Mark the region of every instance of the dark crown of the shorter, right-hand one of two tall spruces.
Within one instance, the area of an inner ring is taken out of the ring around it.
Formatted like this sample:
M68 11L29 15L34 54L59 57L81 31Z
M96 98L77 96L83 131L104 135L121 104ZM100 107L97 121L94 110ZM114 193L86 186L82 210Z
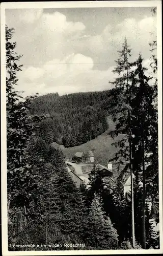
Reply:
M133 120L133 139L134 158L133 169L135 175L142 172L143 155L146 164L146 180L150 180L153 188L158 184L154 182L155 176L158 176L158 127L157 127L157 111L154 105L155 87L149 84L150 77L145 75L147 69L142 66L142 56L140 55L136 63L136 69L133 77L134 98L131 101ZM144 152L142 152L142 139L144 141ZM151 168L155 168L154 172ZM157 194L152 191L152 187L147 184L147 197L155 197ZM149 188L149 190L148 190ZM154 193L154 194L153 194Z

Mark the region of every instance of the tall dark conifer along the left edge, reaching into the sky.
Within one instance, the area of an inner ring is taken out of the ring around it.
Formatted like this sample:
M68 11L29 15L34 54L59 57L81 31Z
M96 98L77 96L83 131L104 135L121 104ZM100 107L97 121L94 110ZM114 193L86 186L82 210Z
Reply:
M12 42L14 29L6 26L6 108L7 108L7 192L8 192L8 242L18 244L28 241L28 233L17 232L16 217L24 218L21 227L29 224L31 204L39 195L39 176L34 173L33 158L28 152L31 136L43 117L30 116L31 102L35 97L22 97L15 90L18 65L21 58ZM35 212L36 213L36 212Z

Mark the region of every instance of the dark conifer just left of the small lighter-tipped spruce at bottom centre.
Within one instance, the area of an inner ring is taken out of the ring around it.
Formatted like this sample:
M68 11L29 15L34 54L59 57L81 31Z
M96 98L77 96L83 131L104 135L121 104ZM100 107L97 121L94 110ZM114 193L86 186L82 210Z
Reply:
M54 217L53 223L60 227L62 234L71 238L71 242L81 241L84 205L80 190L76 188L67 173L63 159L56 158L52 165L55 169L51 182L59 210L59 217Z

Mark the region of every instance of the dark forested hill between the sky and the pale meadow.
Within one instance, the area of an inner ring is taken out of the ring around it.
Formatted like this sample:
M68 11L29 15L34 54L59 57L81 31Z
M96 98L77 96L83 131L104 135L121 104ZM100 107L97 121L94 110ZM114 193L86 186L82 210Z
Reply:
M73 93L59 96L50 93L37 97L31 114L49 114L40 123L38 137L47 144L58 142L73 147L96 138L108 128L106 117L111 91Z

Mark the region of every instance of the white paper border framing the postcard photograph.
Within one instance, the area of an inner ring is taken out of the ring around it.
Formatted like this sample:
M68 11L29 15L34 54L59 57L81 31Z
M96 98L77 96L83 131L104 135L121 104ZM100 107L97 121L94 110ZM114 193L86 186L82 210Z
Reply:
M80 251L8 251L7 242L7 146L6 146L6 67L5 67L5 9L20 8L98 8L98 7L157 7L158 56L158 156L159 156L159 250L80 250ZM162 226L162 65L161 65L161 1L90 1L90 2L24 2L1 3L1 138L2 138L2 249L10 255L77 255L77 254L152 254L163 252Z

